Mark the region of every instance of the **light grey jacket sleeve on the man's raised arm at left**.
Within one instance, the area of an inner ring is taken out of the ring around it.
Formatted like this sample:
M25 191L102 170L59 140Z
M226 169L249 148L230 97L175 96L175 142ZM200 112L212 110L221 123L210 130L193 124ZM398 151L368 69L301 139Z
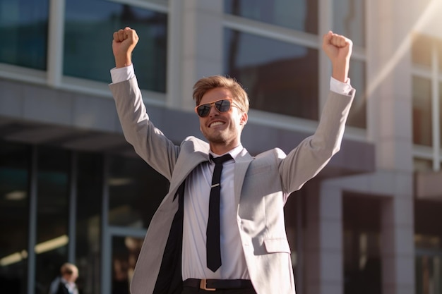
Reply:
M109 85L117 106L124 137L136 153L168 180L179 154L179 146L167 139L150 121L136 78Z

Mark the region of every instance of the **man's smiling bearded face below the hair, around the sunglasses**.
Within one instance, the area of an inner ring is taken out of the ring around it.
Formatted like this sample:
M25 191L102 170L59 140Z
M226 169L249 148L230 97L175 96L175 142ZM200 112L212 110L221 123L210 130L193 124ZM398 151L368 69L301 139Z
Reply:
M200 104L215 102L220 99L232 99L232 93L223 87L205 92ZM234 106L229 111L220 112L215 106L210 107L208 116L200 117L200 129L209 141L210 149L216 154L224 154L241 142L241 131L247 123L247 114Z

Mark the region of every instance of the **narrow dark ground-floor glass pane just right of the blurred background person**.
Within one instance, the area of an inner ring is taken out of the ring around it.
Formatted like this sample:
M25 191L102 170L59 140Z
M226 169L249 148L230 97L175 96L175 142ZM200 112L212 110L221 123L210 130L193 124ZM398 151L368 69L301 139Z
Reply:
M83 294L101 293L102 156L77 156L76 265Z

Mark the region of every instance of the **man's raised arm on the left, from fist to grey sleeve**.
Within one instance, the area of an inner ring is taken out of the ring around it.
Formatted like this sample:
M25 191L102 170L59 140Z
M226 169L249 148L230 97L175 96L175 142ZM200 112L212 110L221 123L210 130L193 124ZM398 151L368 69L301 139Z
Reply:
M131 66L132 51L137 43L138 35L130 27L114 32L112 51L116 68L112 68L111 72L119 71L120 74L128 75L124 72L124 67ZM150 121L136 78L124 78L118 82L112 80L112 84L109 85L124 137L142 159L170 180L179 146L167 139Z

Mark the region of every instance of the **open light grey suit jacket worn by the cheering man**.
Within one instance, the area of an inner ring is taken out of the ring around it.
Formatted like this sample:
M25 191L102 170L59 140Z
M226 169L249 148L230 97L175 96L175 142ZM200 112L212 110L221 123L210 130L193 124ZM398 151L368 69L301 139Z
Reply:
M179 203L185 197L184 189L180 188L198 164L208 161L209 145L196 137L187 137L179 146L168 140L149 120L136 78L109 87L126 140L170 182L169 192L145 235L131 293L179 293L182 281L182 205ZM244 151L235 160L237 229L251 282L258 294L295 293L285 233L285 196L316 176L339 151L354 92L353 89L349 96L330 92L316 133L289 154L275 148L252 157Z

